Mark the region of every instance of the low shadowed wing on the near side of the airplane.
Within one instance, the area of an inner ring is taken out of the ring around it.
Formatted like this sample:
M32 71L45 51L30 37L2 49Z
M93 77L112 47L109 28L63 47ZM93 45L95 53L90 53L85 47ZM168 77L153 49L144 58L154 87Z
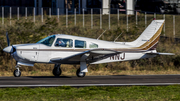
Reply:
M55 63L65 63L65 62L80 62L81 57L85 54L87 54L87 58L86 58L86 62L87 63L92 63L92 62L96 62L111 56L114 56L116 54L120 54L122 52L119 51L115 51L115 50L110 50L110 49L92 49L92 50L88 50L88 51L84 51L82 53L78 53L66 58L54 58L51 59L51 62L55 62Z

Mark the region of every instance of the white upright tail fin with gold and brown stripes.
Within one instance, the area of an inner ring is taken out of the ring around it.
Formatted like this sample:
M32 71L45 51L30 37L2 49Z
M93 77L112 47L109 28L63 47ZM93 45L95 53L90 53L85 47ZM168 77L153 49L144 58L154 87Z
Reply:
M128 42L127 44L141 50L156 49L163 25L164 20L153 20L135 41Z

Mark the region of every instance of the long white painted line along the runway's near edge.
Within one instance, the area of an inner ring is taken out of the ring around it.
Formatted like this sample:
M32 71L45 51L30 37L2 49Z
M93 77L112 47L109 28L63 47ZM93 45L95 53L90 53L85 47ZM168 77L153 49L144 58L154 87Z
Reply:
M135 84L40 84L40 85L0 85L0 88L7 87L88 87L88 86L167 86L167 85L180 85L180 83L135 83Z

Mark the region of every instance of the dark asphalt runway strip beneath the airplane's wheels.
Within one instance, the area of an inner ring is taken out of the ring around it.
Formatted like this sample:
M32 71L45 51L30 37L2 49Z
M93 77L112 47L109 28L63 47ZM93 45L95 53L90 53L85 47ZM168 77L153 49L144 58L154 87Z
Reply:
M0 77L0 87L180 85L180 75Z

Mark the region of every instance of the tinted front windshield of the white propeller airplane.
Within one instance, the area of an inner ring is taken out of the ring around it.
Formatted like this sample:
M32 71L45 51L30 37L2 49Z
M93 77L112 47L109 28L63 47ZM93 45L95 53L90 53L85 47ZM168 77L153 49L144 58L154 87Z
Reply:
M48 36L48 37L38 41L37 43L44 44L47 46L51 46L54 42L54 39L55 39L55 35L51 35L51 36Z

